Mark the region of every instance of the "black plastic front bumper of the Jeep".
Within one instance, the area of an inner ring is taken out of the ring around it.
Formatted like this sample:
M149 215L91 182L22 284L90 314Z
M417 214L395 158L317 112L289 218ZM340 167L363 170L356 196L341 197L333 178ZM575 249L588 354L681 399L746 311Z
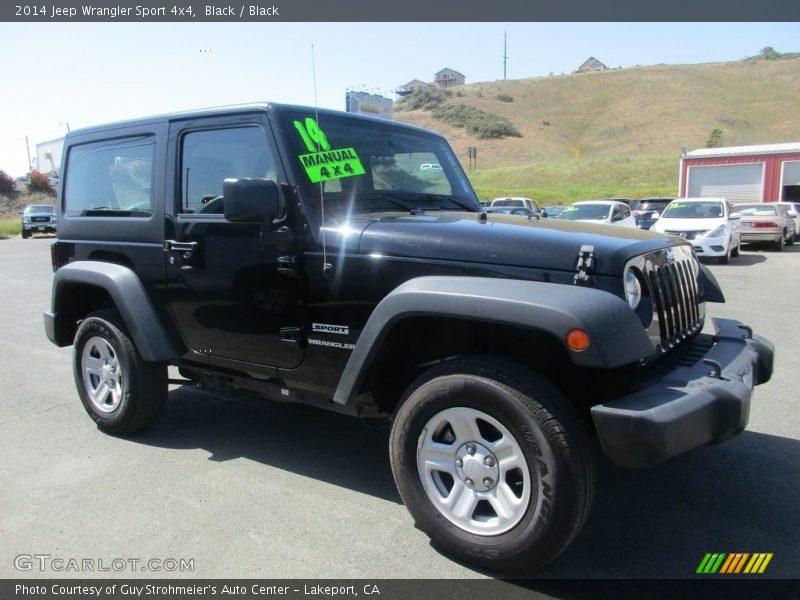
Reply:
M693 342L708 350L637 391L592 407L600 444L618 466L646 468L741 432L755 385L772 376L774 346L730 319Z

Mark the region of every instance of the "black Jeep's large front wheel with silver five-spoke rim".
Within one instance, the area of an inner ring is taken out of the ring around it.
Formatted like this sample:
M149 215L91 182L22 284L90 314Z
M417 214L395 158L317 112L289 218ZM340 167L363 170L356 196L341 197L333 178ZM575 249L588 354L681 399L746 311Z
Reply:
M491 358L445 363L414 382L390 454L431 543L496 571L556 558L594 495L593 457L566 398L541 375Z

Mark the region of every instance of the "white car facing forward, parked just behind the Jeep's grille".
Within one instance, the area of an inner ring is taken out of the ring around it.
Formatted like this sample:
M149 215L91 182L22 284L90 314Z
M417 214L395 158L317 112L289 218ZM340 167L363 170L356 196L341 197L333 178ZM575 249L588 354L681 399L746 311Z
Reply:
M725 198L676 198L650 230L680 236L692 243L697 256L727 264L742 248L740 217Z

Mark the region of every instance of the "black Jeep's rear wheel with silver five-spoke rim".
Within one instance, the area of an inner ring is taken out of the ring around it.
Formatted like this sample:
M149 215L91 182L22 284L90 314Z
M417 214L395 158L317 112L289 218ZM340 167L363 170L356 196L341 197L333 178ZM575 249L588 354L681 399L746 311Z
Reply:
M78 327L73 375L83 407L106 433L149 427L167 400L166 364L142 359L114 309L93 312Z

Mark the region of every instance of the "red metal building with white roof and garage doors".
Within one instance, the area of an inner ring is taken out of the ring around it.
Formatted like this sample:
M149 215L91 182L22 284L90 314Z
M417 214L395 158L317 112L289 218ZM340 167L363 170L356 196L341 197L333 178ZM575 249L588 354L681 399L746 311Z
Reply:
M692 150L681 157L683 198L800 202L800 143Z

